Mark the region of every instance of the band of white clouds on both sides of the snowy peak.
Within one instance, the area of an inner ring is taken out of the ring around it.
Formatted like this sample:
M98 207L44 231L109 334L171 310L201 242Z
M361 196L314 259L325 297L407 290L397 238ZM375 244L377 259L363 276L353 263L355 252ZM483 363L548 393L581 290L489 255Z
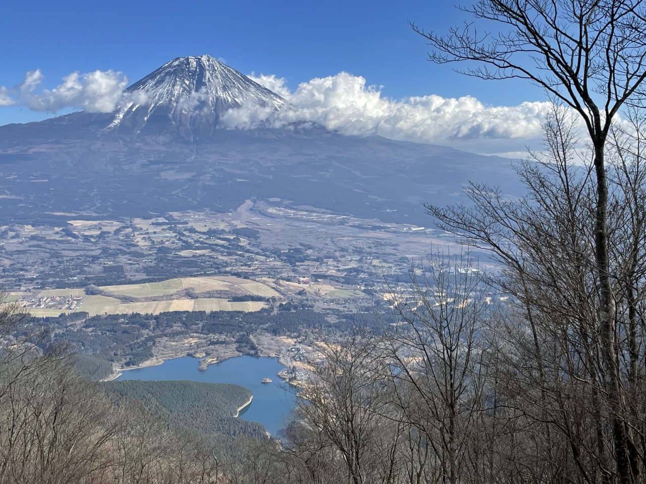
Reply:
M428 95L390 99L366 79L340 72L315 78L293 90L276 76L249 76L287 99L289 107L241 106L220 117L227 128L280 128L292 123L322 125L349 135L379 135L391 139L461 147L477 152L522 150L523 144L541 136L547 102L517 106L485 106L475 97L445 98ZM26 106L34 111L57 112L83 108L112 112L125 99L127 79L121 72L74 72L48 90L42 88L40 70L28 72L14 88L0 86L0 106ZM144 101L138 99L139 102Z

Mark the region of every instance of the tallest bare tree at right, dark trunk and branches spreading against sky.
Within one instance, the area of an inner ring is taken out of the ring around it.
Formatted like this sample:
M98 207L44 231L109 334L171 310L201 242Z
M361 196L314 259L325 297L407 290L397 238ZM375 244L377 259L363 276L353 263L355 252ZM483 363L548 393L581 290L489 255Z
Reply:
M620 347L618 296L613 290L614 283L623 274L610 254L606 158L613 119L622 106L639 105L641 101L640 88L646 78L644 2L480 0L463 10L472 14L479 24L494 25L497 32L483 34L477 31L475 24L470 24L452 28L448 35L440 35L426 32L412 24L413 29L428 39L432 46L431 61L440 64L474 61L474 67L459 72L483 79L527 79L544 88L552 99L574 110L587 130L592 147L591 166L594 174L593 202L590 206L593 214L590 223L594 259L590 263L598 285L598 300L592 301L591 305L596 313L594 318L598 318L598 325L596 322L594 325L598 332L595 336L598 336L600 351L599 361L594 363L601 363L599 378L603 383L603 392L600 392L599 398L609 407L612 456L616 462L618 479L624 484L640 482L640 459L643 459L643 454L638 456L636 449L641 447L643 436L633 438L630 435L630 422L625 418L626 408L630 404L626 399L625 382L621 378L620 356L623 348ZM581 193L566 190L566 196L568 193L573 197L581 196ZM480 208L491 209L490 203L487 203L490 196L484 190L479 191L479 196L482 202ZM497 204L497 208L503 207ZM462 223L464 219L460 221L460 217L453 217L455 212L450 214L437 207L428 207L428 210L448 228L468 228ZM483 217L479 221L484 221ZM507 221L514 223L513 217L507 217ZM480 235L484 233L478 230L476 232ZM486 238L492 233L487 230L485 232L489 233L481 241L487 243ZM634 240L638 240L639 235L630 234ZM493 240L488 241L491 242L495 243ZM543 243L550 242L552 241L543 239ZM512 265L513 263L514 261ZM579 261L579 269L585 272L587 263L588 261ZM515 270L522 272L522 264L517 264ZM632 277L630 283L636 281L639 278ZM626 286L627 284L624 285ZM627 294L634 295L634 291L629 290ZM528 297L526 303L531 303ZM609 478L614 471L605 469L603 472Z

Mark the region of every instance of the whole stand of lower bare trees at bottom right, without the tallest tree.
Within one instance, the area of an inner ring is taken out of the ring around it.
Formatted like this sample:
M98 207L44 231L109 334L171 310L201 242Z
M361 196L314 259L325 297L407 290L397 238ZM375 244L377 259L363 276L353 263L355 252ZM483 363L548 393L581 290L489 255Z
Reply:
M607 274L596 253L594 166L572 165L575 123L556 106L546 157L517 167L526 197L472 185L472 208L427 207L499 261L501 274L483 280L506 304L492 304L477 277L464 275L470 264L432 259L426 277L395 298L398 324L379 338L329 346L328 365L305 390L311 404L298 408L304 425L290 429L298 451L320 459L321 476L339 472L355 484L643 481L644 119L629 114L606 146L612 312L599 281Z

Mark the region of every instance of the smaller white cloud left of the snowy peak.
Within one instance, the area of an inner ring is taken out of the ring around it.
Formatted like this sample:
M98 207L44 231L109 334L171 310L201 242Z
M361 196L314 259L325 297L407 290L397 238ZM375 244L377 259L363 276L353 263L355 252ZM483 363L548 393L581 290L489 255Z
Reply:
M123 96L128 80L113 70L73 72L49 90L42 88L40 70L27 72L15 88L0 86L0 106L26 106L34 111L57 112L63 108L83 108L88 112L112 112Z

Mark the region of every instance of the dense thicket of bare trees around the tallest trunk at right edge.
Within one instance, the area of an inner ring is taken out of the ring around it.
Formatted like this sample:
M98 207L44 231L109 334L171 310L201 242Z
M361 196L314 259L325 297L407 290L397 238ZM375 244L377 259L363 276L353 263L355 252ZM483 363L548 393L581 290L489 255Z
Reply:
M497 284L512 296L516 314L505 331L497 331L497 351L488 363L499 371L496 391L505 401L498 415L515 425L526 421L525 430L514 435L540 443L545 452L538 455L545 460L539 467L550 469L551 462L558 469L554 479L622 481L628 470L628 478L639 482L643 474L646 186L639 127L635 120L630 129L614 128L607 161L619 406L609 394L604 353L594 167L572 164L576 136L570 112L555 106L545 125L547 159L536 157L517 168L526 197L510 199L472 185L473 207L427 207L441 227L489 250L503 265ZM623 470L618 421L629 465Z

